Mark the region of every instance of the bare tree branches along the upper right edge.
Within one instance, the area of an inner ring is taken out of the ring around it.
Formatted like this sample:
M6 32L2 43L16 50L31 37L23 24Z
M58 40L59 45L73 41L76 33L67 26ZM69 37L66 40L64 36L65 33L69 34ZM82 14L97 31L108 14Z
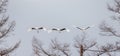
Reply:
M112 19L115 20L116 22L120 22L120 0L114 0L115 1L115 5L114 7L108 5L108 9L110 11L112 11L113 13L115 13L114 16L112 16ZM112 24L112 26L110 24L108 24L106 21L102 22L99 26L100 30L101 30L101 34L105 35L105 36L116 36L116 37L120 37L119 34L119 30L116 30L116 28L114 28L115 24ZM119 28L119 26L118 26Z

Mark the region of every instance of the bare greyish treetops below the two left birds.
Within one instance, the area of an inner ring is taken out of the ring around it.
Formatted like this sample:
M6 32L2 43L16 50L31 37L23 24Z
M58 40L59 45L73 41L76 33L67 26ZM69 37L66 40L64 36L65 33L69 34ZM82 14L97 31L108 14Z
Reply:
M48 49L43 48L43 45L39 40L33 38L32 46L34 54L37 56L70 56L69 44L59 43L57 39L51 40L50 47Z

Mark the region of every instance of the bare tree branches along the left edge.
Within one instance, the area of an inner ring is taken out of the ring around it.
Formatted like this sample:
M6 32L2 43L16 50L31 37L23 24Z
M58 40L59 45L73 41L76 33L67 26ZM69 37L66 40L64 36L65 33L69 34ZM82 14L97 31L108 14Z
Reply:
M9 16L5 16L6 7L8 0L0 0L0 39L4 39L9 36L14 30L15 21L9 23ZM0 56L9 56L9 53L13 52L16 48L18 48L20 41L16 43L13 47L10 48L0 48Z

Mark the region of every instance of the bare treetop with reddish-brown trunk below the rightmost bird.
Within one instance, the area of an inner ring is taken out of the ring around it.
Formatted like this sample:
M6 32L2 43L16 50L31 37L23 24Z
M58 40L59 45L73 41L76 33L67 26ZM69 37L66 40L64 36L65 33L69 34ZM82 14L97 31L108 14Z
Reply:
M80 56L84 56L84 53L90 51L92 47L96 45L95 41L86 40L86 33L82 31L81 37L75 38L74 46L78 49Z

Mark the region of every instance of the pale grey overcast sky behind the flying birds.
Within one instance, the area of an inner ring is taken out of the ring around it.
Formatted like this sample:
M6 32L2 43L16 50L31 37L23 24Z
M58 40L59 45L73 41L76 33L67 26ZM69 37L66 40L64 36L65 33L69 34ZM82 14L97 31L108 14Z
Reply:
M16 21L14 37L22 40L20 48L13 56L30 56L33 36L46 43L54 37L71 42L79 35L79 31L72 26L97 27L102 20L109 18L110 12L106 4L110 2L111 0L10 0L8 14L10 20ZM32 26L66 27L71 29L72 33L27 32Z

